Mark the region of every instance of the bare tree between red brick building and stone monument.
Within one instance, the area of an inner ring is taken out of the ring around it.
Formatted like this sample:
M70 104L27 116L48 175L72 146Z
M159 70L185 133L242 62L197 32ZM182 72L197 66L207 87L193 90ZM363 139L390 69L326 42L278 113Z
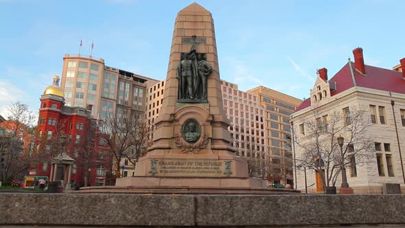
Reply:
M143 157L150 146L153 126L142 119L141 113L119 108L117 114L106 117L97 123L100 144L109 147L115 166L115 176L121 176L119 166L126 158L135 167L139 157Z

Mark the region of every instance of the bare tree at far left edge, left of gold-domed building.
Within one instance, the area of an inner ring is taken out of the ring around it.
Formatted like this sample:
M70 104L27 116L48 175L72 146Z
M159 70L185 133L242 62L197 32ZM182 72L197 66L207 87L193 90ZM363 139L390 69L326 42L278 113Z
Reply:
M30 163L30 144L24 148L34 133L35 114L28 104L20 101L8 107L7 121L1 123L0 129L0 181L10 181L16 174L27 170ZM24 152L24 149L27 149Z

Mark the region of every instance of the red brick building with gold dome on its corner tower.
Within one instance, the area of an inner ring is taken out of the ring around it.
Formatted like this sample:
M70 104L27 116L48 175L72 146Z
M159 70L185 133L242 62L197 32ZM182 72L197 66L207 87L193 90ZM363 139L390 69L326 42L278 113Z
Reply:
M44 157L43 162L34 166L36 176L50 176L49 161L65 150L75 159L71 180L78 187L87 185L104 185L108 169L108 148L98 143L95 119L91 117L92 106L65 106L64 91L59 87L58 76L54 83L45 89L40 98L38 117L38 136L35 144L38 153ZM67 137L67 144L62 148L60 136Z

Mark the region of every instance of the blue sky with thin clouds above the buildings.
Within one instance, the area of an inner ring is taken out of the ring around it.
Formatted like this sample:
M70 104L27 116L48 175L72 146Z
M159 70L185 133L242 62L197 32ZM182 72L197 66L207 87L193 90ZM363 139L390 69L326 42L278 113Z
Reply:
M188 0L0 0L0 115L16 100L38 111L65 54L163 80L178 11ZM329 78L362 47L366 65L405 57L405 1L197 1L213 15L220 78L308 98L316 69Z

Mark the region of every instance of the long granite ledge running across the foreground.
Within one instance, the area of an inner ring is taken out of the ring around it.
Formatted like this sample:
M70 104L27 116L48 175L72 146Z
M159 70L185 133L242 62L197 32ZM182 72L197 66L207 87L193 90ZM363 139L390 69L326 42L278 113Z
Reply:
M0 194L0 225L405 225L405 195Z

